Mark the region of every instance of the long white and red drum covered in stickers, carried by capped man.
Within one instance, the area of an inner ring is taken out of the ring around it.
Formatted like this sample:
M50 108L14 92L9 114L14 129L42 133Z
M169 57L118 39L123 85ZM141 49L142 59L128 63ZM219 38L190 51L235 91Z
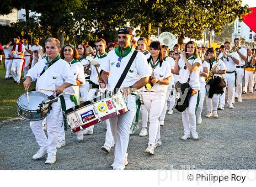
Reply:
M123 94L106 94L86 101L74 108L67 109L67 117L71 133L86 129L101 121L123 114L128 111L126 99Z

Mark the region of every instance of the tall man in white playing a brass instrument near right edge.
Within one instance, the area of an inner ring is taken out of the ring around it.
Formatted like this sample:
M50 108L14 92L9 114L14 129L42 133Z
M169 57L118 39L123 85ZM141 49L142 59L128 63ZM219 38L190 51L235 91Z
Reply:
M241 39L235 38L234 39L234 51L238 53L240 57L240 63L236 66L236 73L237 73L237 93L235 93L235 97L237 96L237 102L242 102L242 80L244 77L244 68L245 68L245 61L247 52L246 49L241 47Z

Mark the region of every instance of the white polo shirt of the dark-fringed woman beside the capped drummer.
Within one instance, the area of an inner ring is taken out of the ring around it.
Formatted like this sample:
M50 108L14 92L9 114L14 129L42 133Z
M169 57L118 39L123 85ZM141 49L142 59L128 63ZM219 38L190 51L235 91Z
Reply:
M151 71L151 74L153 74L153 76L159 80L163 80L165 78L168 78L172 75L171 73L171 67L169 65L168 62L163 61L161 67L160 67L160 63L158 63L158 65L155 67L155 69L153 70L153 68L151 67L151 64L148 63L149 69ZM153 87L150 89L150 92L166 92L168 89L168 85L163 85L160 83L155 83L153 85ZM145 87L142 88L142 91L147 91L147 89Z

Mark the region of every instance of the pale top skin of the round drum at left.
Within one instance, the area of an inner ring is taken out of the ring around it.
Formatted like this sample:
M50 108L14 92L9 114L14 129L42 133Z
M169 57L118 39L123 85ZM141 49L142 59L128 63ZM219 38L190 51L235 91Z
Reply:
M39 109L38 105L47 98L47 95L40 92L29 92L29 104L27 103L27 93L22 94L18 99L18 105L27 110L37 110ZM43 108L48 104L44 104Z

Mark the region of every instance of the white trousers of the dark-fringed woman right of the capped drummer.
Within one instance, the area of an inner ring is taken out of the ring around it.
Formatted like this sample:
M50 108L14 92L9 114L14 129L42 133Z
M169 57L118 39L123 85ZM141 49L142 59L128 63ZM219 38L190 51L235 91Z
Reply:
M149 112L149 144L160 139L159 117L165 105L165 92L142 92L144 105Z

